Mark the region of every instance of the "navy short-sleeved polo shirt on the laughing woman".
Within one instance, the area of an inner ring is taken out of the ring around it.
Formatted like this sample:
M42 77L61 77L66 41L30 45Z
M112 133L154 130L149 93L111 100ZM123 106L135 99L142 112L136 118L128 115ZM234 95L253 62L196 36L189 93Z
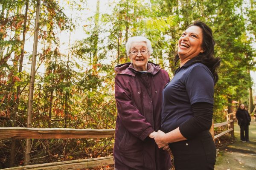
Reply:
M209 68L190 59L175 71L175 76L163 89L162 130L170 132L190 119L191 105L207 102L213 105L214 78Z

